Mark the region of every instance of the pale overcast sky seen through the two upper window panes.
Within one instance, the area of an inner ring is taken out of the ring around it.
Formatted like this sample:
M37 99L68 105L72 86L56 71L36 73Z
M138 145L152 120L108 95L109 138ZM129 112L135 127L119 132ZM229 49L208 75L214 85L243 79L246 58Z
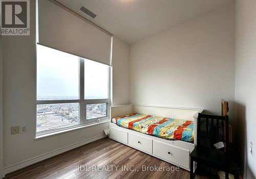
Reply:
M86 98L108 98L108 65L84 60ZM78 99L79 57L37 44L37 96Z

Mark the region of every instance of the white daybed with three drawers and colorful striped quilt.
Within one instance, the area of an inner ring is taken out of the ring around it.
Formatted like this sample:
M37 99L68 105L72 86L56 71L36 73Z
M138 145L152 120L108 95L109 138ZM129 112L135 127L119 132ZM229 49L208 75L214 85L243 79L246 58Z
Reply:
M197 144L202 109L146 105L112 106L110 138L186 170Z

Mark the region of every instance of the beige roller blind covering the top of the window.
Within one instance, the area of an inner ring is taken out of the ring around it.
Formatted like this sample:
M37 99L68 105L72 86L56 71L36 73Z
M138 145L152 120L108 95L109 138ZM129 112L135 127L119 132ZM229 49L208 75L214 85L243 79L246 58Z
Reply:
M111 65L112 36L48 0L38 1L38 43Z

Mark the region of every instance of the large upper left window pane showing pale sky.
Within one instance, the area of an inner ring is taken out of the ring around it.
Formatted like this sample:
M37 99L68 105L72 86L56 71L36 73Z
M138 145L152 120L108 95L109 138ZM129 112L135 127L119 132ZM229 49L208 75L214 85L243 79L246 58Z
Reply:
M79 99L79 57L37 45L37 100Z

